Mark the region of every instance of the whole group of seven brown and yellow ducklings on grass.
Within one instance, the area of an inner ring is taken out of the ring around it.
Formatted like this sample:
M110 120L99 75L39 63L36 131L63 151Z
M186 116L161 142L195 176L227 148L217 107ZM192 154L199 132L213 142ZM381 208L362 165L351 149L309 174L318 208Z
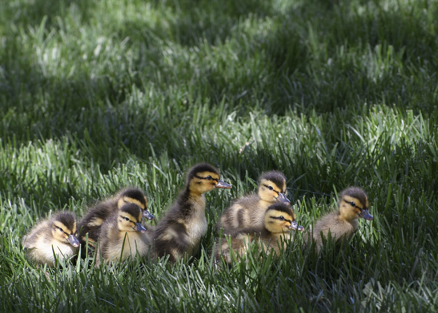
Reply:
M48 266L55 266L58 258L76 255L79 245L83 251L96 249L96 266L136 256L153 260L168 256L176 262L199 250L207 231L204 193L215 188L231 185L220 180L214 166L198 164L188 171L185 187L156 227L142 224L143 218L154 219L147 210L145 194L128 188L91 207L77 225L70 212L39 222L24 236L22 244L28 249L28 258ZM348 187L340 194L338 210L316 222L306 243L313 238L319 251L322 238L329 234L335 240L349 238L358 229L358 218L373 219L368 207L365 192ZM253 242L278 255L292 231L304 231L295 221L286 196L286 177L279 171L262 173L257 193L235 200L223 212L217 228L226 237L217 239L213 254L217 261L223 259L228 264L244 258Z

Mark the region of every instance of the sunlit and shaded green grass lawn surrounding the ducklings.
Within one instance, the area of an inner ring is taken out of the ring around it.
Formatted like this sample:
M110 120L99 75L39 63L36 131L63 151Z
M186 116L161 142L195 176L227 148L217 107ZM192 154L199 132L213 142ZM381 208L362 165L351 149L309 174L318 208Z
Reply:
M2 1L0 310L437 311L437 16L426 0ZM201 161L233 189L207 194L189 264L25 259L38 219L123 186L159 220ZM348 185L375 219L342 252L298 236L218 271L215 222L269 169L306 228Z

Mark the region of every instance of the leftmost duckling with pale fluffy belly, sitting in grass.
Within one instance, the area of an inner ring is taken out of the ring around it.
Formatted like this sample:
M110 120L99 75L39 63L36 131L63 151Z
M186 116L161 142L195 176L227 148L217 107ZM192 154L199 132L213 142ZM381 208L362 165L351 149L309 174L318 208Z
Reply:
M59 212L40 221L24 236L22 245L28 258L37 264L55 266L56 258L69 259L78 251L76 218L73 213Z

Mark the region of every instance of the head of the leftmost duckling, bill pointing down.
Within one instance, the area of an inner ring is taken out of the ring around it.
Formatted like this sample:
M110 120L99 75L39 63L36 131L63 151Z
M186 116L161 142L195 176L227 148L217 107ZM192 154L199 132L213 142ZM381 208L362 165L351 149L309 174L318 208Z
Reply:
M56 214L52 219L52 236L55 240L70 243L73 247L79 247L76 238L76 218L70 212Z

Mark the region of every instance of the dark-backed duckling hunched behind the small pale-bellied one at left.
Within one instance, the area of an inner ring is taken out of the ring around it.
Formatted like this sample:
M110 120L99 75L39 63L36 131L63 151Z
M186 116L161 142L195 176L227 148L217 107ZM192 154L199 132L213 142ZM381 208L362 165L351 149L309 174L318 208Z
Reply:
M85 244L86 235L90 243L95 243L99 238L100 229L104 221L110 217L117 209L120 209L126 203L134 203L143 210L143 217L153 220L154 216L147 210L147 199L145 194L136 188L128 188L119 191L114 197L97 203L92 207L84 218L79 222L79 240Z

